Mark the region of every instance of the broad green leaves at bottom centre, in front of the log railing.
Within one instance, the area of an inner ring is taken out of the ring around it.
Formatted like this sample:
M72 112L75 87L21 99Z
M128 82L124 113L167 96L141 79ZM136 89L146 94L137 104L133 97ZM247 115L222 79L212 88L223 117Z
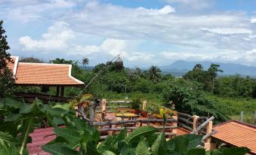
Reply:
M166 120L165 117L164 119ZM54 132L57 138L43 146L43 150L54 155L206 154L204 148L198 147L201 144L202 135L181 135L166 141L165 129L157 135L158 129L152 126L141 126L130 133L127 133L127 129L123 129L119 134L109 135L100 143L100 134L97 129L79 119L71 119L66 123L66 128L56 127ZM245 147L221 148L208 154L231 155L234 152L237 155L243 155L248 152L248 149Z

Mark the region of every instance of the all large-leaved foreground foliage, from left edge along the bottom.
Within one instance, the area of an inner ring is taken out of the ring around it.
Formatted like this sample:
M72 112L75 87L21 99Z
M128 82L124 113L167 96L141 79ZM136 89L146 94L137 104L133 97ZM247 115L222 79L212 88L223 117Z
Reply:
M65 127L54 126L57 135L53 141L42 148L51 154L202 154L205 150L197 147L202 140L202 135L182 135L166 141L165 129L156 135L158 129L151 126L142 126L127 134L124 129L118 135L109 135L100 141L100 134L95 127L75 117L66 105L43 105L35 100L32 105L17 102L14 99L2 101L1 112L5 120L0 125L0 153L27 154L26 144L31 141L29 132L34 129L35 121L39 117L47 117L52 121L54 117L63 120ZM7 111L7 112L6 112ZM19 115L11 119L9 114ZM9 121L6 121L9 119ZM19 127L21 125L21 127ZM11 127L12 130L8 129ZM19 134L18 134L19 133ZM208 152L208 154L242 155L248 152L244 147L221 148Z

